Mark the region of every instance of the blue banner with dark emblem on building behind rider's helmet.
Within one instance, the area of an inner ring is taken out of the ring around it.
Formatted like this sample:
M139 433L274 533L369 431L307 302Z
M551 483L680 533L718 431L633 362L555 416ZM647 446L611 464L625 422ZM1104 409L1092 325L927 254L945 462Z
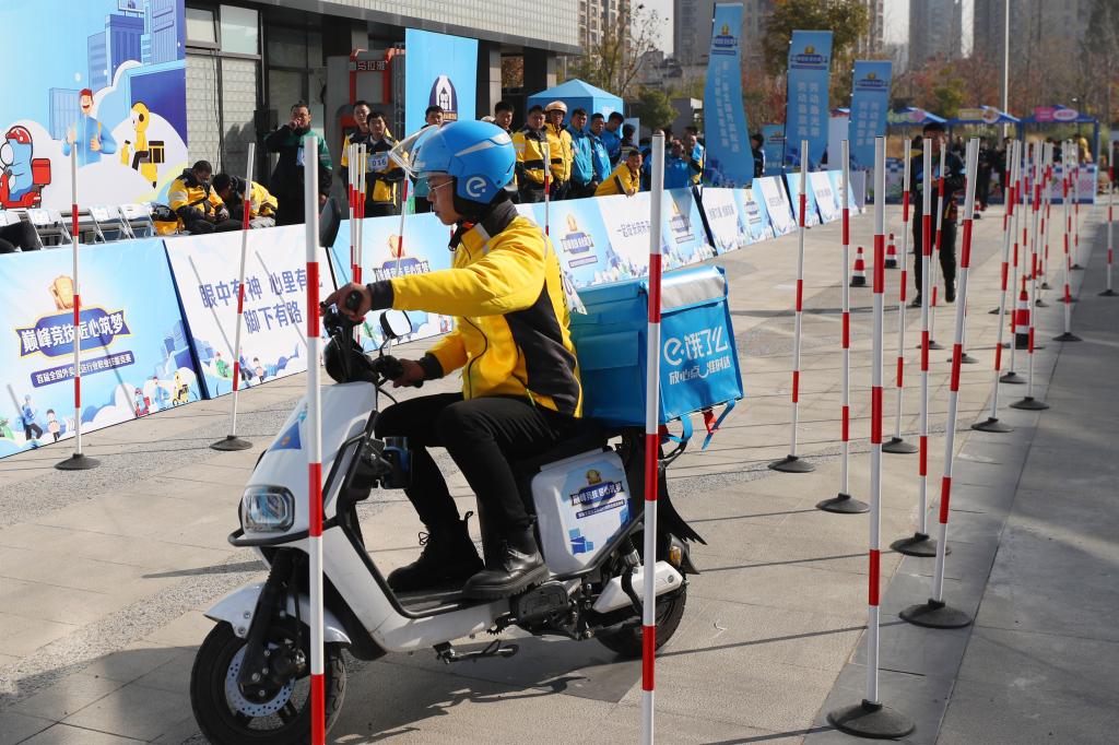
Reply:
M478 40L446 34L404 31L408 63L404 68L404 129L402 138L424 125L427 106L441 106L443 121L474 119Z

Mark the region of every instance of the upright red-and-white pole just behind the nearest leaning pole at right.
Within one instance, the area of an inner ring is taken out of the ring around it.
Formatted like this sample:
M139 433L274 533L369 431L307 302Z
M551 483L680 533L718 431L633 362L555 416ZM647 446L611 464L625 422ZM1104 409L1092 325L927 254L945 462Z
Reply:
M916 530L890 545L906 556L935 556L937 541L929 537L929 265L932 263L932 140L925 138L921 194L921 415L919 424Z

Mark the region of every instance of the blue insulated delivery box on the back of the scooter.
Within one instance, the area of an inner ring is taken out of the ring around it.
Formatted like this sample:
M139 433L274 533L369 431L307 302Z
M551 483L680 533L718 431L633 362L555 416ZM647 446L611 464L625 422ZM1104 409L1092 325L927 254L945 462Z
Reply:
M718 266L661 280L660 423L742 398L734 328ZM572 314L583 379L583 414L613 426L645 424L649 281L580 290L586 314Z

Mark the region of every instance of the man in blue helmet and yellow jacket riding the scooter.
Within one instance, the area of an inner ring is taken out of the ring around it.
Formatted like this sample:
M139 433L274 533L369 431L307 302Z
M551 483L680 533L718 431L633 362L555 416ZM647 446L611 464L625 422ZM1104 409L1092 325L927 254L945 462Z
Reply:
M563 274L548 239L510 200L516 152L508 133L486 122L453 122L424 133L413 152L432 211L455 226L452 267L348 284L326 302L344 308L359 292L357 309L344 311L354 321L387 308L457 317L454 330L422 359L402 360L394 385L462 368L462 392L401 402L377 419L377 437L408 440L413 479L405 493L427 529L420 558L393 572L388 584L408 592L466 581L467 596L506 597L548 576L509 461L540 453L582 426ZM427 452L440 446L473 490L485 530L499 536L485 566Z

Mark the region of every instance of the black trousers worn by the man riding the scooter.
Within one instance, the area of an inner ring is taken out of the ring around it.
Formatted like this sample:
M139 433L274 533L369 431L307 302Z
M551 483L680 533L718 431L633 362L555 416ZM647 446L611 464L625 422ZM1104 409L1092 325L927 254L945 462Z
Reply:
M474 492L487 519L508 535L525 530L525 508L510 460L528 458L576 435L582 421L514 396L464 400L436 394L394 404L377 418L376 435L404 436L412 451L412 487L405 490L429 530L453 525L459 510L427 452L445 447Z

